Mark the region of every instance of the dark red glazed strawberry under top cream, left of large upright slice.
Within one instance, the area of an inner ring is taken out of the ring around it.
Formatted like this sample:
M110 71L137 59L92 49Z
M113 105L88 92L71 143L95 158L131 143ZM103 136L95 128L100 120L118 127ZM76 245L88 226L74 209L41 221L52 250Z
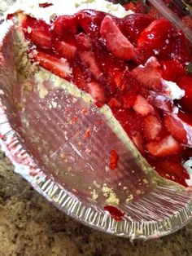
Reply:
M102 20L106 15L103 11L83 10L76 13L76 20L85 33L92 38L98 38Z

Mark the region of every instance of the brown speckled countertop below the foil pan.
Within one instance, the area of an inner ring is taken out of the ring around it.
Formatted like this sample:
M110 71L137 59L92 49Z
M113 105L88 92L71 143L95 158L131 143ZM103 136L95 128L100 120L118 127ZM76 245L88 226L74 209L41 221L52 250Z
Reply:
M192 223L157 241L130 243L76 223L12 170L0 152L0 256L192 255Z

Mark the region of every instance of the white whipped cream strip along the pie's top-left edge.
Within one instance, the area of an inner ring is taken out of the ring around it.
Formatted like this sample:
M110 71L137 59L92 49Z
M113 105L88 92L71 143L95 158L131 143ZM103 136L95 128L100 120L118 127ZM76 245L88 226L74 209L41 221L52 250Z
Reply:
M7 11L7 14L21 10L25 14L31 15L37 19L45 20L50 24L50 20L56 15L73 15L77 11L83 9L94 9L97 11L105 11L111 15L123 18L125 15L133 13L133 11L125 11L120 4L113 4L105 0L50 0L52 6L42 8L39 4L45 3L45 0L17 0L15 4ZM49 2L49 1L47 1ZM6 15L7 15L6 14Z

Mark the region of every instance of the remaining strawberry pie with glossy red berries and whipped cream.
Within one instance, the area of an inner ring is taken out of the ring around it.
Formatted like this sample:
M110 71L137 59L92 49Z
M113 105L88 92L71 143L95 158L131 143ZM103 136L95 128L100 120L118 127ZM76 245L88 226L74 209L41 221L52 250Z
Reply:
M34 63L89 93L98 108L107 104L161 176L191 186L191 53L184 33L163 17L103 0L60 8L59 1L39 2L16 12Z

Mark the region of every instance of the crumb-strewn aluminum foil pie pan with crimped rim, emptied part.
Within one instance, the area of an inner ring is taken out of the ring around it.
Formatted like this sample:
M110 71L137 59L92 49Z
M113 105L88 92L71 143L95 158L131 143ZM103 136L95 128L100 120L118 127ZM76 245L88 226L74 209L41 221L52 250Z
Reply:
M0 31L0 144L15 172L72 218L116 236L156 238L188 223L190 189L160 178L107 106L33 65L15 24ZM114 148L120 161L110 170Z

